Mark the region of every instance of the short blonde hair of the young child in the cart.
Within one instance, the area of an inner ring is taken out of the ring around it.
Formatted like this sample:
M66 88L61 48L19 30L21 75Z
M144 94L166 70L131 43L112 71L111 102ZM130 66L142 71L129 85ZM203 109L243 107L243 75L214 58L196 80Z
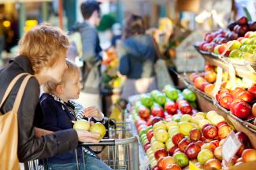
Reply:
M61 77L60 83L55 83L53 81L48 81L43 85L43 91L54 94L56 87L58 85L65 85L69 78L74 78L74 75L80 75L80 68L76 66L76 63L72 63L70 60L66 60L68 68L64 71Z

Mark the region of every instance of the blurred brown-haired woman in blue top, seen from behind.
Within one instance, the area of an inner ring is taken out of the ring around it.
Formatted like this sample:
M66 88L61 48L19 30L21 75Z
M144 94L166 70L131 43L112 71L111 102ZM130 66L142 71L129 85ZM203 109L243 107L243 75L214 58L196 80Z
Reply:
M154 78L154 63L157 53L154 39L145 34L141 16L132 15L124 27L124 42L121 43L119 71L127 77L122 98L157 89Z

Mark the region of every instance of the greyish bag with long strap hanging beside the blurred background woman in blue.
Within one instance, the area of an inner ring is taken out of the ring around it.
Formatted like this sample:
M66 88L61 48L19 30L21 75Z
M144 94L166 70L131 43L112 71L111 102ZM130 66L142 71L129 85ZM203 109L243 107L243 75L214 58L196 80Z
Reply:
M161 57L161 52L158 49L158 44L155 42L154 38L152 38L152 42L154 45L154 50L157 53L158 60L154 63L154 71L156 74L158 89L162 90L165 88L165 85L173 85L173 79L170 77L169 71L166 67L165 60Z

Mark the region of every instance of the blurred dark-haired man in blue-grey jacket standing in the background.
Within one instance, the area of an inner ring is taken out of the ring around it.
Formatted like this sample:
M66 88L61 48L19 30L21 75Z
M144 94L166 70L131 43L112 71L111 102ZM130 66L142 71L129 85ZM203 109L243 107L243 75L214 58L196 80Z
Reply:
M101 109L100 98L100 67L102 63L102 48L100 46L96 27L100 23L100 7L98 2L87 0L80 6L83 23L76 24L72 31L79 31L83 44L83 104Z

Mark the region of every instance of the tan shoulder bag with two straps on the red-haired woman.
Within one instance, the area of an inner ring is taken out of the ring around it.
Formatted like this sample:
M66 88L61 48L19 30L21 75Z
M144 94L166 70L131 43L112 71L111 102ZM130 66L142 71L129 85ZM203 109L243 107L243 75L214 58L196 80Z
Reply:
M0 113L0 168L5 170L20 170L19 160L17 157L17 148L18 148L18 120L17 113L20 107L20 102L24 94L24 90L28 83L29 78L32 75L23 73L17 75L13 78L13 81L9 84L6 89L2 101L0 103L0 108L3 103L6 101L9 93L13 89L13 86L16 82L23 76L27 75L20 85L20 89L17 93L16 99L13 104L13 109L6 114Z

